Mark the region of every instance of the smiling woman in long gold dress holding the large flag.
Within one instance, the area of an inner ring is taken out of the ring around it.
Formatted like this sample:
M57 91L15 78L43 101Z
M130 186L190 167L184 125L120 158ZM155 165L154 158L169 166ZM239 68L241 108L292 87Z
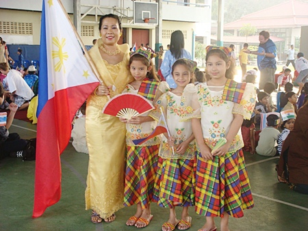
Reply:
M101 111L108 98L123 92L133 80L127 68L128 44L118 45L121 25L118 16L100 18L101 38L89 55L101 81L87 100L86 137L89 166L86 188L86 209L92 209L91 221L114 221L114 212L123 207L125 171L125 124Z

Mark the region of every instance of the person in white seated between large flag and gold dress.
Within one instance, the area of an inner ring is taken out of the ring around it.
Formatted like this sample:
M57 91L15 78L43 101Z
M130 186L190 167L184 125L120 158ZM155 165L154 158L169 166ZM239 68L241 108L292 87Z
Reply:
M83 116L75 120L72 135L73 147L77 152L89 153L86 141L86 102L80 107Z

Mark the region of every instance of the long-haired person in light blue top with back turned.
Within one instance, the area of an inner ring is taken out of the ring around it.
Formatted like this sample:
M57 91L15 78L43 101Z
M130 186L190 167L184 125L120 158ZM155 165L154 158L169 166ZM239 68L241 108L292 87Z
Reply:
M177 84L172 78L172 65L177 59L192 59L188 51L184 49L184 36L182 31L173 31L171 34L170 50L166 51L160 70L170 88L175 89Z

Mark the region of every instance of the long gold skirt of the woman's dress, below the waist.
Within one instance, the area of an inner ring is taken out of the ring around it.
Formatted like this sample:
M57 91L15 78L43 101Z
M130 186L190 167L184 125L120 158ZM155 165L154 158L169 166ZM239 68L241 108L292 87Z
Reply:
M86 135L89 166L86 209L101 218L123 207L125 176L125 123L87 105Z

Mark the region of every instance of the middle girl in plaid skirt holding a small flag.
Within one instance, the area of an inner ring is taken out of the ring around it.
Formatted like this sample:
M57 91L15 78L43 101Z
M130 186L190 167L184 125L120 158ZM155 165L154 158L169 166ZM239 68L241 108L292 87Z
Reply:
M194 65L194 66L193 66ZM159 147L158 169L155 178L154 198L159 206L170 208L170 217L163 231L187 230L192 223L188 207L194 206L194 188L192 186L194 167L194 135L190 121L181 122L180 116L192 113L192 107L184 103L189 89L194 89L193 68L196 64L188 59L178 59L172 66L172 77L177 84L175 89L163 94L151 112L155 120L164 111L170 136L165 134ZM181 219L175 214L175 206L183 206Z

